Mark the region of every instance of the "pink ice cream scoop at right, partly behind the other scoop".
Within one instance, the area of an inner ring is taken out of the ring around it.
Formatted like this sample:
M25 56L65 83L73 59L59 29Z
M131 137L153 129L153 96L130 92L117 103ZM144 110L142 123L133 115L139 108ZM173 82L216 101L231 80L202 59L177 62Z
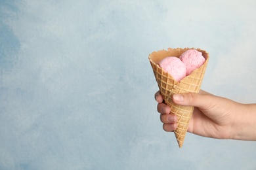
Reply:
M198 69L205 61L202 52L198 50L187 50L181 54L180 59L186 65L186 76Z

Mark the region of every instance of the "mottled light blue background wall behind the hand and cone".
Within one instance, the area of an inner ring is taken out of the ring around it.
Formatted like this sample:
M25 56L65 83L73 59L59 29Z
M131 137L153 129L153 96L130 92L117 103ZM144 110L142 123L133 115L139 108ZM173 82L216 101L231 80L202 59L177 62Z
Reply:
M0 1L0 169L255 169L256 143L163 131L148 54L210 54L202 89L256 103L256 1ZM243 113L241 113L243 114Z

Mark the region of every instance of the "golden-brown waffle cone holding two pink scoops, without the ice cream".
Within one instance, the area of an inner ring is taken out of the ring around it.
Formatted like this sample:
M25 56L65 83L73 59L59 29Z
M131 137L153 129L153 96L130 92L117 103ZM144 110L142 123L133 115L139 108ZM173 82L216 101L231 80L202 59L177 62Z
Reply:
M160 50L158 52L152 52L148 59L152 66L156 82L160 89L163 99L169 107L171 107L171 114L175 114L178 117L177 129L174 131L179 147L182 147L186 131L188 130L188 123L192 116L194 107L181 106L173 103L172 97L175 93L198 93L202 84L203 75L207 67L209 60L209 54L205 50L196 49L202 52L205 62L201 67L194 70L190 75L184 77L180 82L177 82L171 75L163 71L158 63L161 59L175 56L179 58L186 50L195 48L168 48L168 50Z

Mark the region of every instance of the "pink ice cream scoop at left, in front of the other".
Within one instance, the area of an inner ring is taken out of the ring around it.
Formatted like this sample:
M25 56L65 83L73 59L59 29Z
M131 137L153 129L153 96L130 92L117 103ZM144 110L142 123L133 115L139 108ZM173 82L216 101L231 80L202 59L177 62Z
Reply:
M181 59L177 57L163 58L159 65L178 82L186 76L186 66L182 63Z

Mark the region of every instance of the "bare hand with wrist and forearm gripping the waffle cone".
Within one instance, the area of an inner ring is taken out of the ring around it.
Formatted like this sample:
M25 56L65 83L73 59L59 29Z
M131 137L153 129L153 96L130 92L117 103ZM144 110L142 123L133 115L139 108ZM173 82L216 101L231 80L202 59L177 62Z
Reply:
M171 109L163 103L159 91L155 99L163 129L174 131L177 128L177 116L170 113ZM175 94L173 101L195 107L188 126L190 133L215 139L256 141L256 104L237 103L203 90L198 94Z

